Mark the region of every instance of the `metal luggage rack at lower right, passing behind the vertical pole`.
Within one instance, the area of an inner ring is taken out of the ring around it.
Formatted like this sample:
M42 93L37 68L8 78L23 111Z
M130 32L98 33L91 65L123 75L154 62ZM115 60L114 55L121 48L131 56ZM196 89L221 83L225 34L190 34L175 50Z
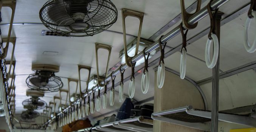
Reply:
M209 131L211 123L211 111L193 109L192 106L185 106L176 109L155 112L152 114L152 119L191 127L194 129ZM219 112L219 121L256 127L256 119L244 115Z

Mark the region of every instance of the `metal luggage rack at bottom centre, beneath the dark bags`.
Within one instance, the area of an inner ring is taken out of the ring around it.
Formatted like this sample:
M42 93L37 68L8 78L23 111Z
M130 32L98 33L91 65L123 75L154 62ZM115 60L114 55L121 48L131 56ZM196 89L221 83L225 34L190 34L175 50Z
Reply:
M92 132L153 132L153 120L140 116L81 129L77 132L90 132L90 130Z

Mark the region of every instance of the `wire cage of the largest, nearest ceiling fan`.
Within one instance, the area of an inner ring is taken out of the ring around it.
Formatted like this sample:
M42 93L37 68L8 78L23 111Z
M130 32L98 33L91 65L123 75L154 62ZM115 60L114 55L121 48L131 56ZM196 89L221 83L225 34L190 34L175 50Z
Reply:
M39 14L43 25L56 34L84 37L112 26L118 11L110 0L49 0Z

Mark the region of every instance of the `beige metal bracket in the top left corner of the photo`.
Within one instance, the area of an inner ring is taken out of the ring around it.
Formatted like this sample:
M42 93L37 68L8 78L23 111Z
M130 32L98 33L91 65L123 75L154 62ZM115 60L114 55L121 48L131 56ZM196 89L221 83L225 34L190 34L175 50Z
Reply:
M10 21L10 26L9 26L8 37L7 37L7 40L6 40L6 46L4 48L4 54L2 56L2 58L6 58L7 53L8 53L8 48L9 48L10 37L11 37L14 13L15 13L15 9L16 9L16 0L2 0L2 1L3 1L3 5L2 6L9 7L9 8L12 9L12 16L11 16L11 21ZM0 7L0 9L2 9L2 6ZM0 40L0 41L2 41L2 40ZM14 52L14 47L15 47L15 45L13 45L12 56L13 56L13 52Z

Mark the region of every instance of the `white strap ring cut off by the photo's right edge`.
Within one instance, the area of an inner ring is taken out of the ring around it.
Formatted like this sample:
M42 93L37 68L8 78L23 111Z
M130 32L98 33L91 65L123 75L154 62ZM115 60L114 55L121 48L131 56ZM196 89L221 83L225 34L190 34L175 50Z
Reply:
M256 21L256 11L252 11L251 14L253 15L254 20ZM254 41L253 41L252 45L249 43L249 40L248 40L248 29L250 28L250 24L251 24L252 19L253 18L247 17L247 19L245 21L245 26L244 26L245 27L245 30L244 30L244 40L245 40L244 41L244 47L245 47L246 51L249 52L249 53L253 53L253 52L256 51L256 34L255 34ZM254 29L254 28L252 28L252 29Z

